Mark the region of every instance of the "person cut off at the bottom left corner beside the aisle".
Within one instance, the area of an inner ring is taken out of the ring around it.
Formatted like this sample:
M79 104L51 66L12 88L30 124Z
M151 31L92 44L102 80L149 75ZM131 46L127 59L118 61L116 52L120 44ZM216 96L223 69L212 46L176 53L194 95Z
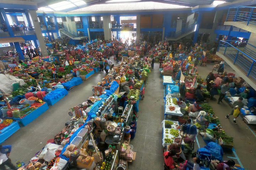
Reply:
M17 168L14 164L11 163L11 159L9 155L11 153L11 145L4 145L0 146L0 170L6 170L6 166L9 167L11 170L16 170Z

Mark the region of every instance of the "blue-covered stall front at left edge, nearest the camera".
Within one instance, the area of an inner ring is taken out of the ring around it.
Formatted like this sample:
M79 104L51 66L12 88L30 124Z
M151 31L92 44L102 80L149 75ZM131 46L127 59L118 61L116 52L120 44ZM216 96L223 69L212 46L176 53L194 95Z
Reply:
M16 121L13 121L9 126L0 130L0 143L4 142L8 137L14 134L17 130L20 129L20 126Z

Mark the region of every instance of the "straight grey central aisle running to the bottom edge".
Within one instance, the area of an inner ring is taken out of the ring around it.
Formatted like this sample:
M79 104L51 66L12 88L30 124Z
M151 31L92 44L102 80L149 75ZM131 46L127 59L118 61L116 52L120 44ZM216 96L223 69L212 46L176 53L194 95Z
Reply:
M139 103L137 132L131 140L136 160L129 164L128 169L162 170L162 126L164 119L162 78L159 73L159 63L148 74L148 84L145 88L145 98Z

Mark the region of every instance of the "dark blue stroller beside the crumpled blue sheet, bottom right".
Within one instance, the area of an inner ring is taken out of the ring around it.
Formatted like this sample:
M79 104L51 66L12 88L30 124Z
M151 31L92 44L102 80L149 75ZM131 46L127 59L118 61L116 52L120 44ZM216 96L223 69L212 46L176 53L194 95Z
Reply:
M197 157L201 160L201 169L210 170L210 162L212 155L208 151L204 151L204 148L199 148L197 150Z

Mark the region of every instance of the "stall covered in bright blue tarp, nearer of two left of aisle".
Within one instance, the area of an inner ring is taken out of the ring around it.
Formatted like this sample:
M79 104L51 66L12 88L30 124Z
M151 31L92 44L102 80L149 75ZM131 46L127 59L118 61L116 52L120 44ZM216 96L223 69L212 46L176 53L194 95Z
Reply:
M47 102L48 106L52 106L66 95L68 95L66 89L56 89L44 96L43 100Z

